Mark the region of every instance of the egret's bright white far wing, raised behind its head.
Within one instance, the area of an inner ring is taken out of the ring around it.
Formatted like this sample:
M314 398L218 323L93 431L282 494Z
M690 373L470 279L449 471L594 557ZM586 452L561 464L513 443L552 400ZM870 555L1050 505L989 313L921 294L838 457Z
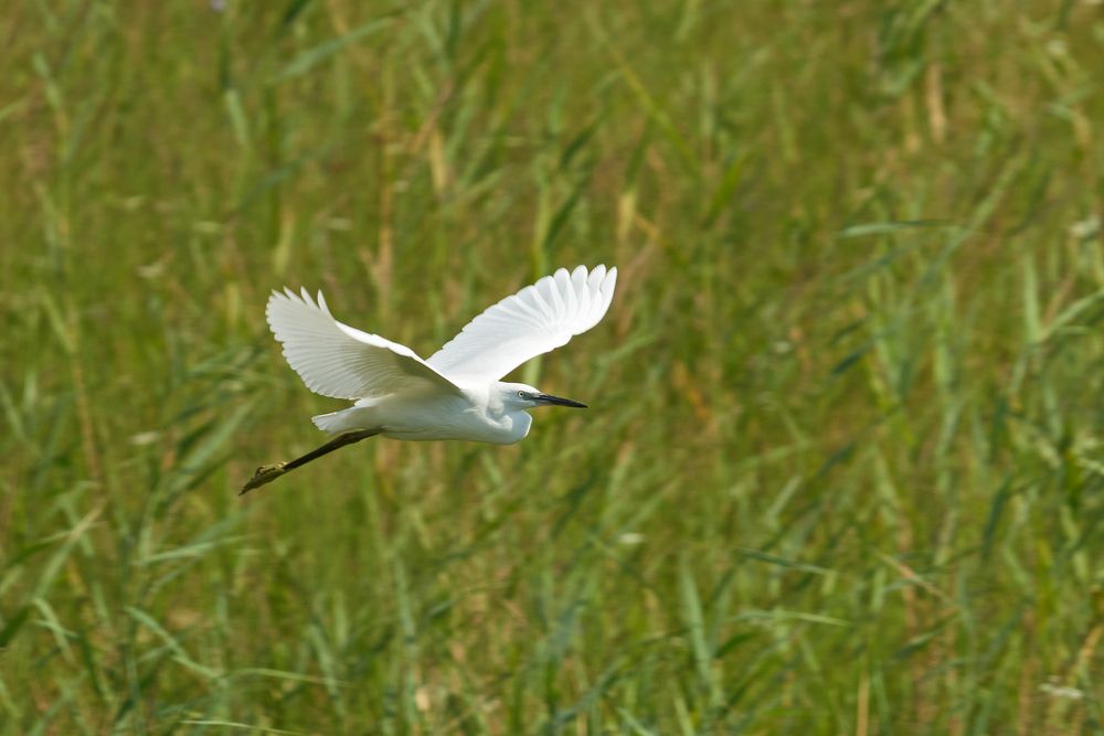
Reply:
M487 309L426 362L445 375L497 381L597 324L616 284L616 268L561 268Z

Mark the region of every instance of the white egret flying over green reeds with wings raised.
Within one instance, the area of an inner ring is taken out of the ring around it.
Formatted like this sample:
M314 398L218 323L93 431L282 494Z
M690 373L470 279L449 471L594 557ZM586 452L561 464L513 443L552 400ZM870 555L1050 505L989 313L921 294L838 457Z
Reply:
M578 266L502 299L422 360L405 345L343 324L321 291L311 299L273 291L266 314L284 356L316 394L352 399L312 417L337 437L289 462L257 468L242 493L333 450L382 435L394 439L467 439L511 445L529 434L529 409L585 404L500 378L598 323L609 308L617 269Z

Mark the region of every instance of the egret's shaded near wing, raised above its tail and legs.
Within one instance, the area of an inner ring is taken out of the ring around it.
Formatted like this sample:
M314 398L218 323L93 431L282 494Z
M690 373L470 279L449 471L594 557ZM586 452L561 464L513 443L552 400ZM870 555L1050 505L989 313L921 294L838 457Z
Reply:
M457 392L413 350L333 319L322 292L316 302L285 288L273 291L265 310L268 327L284 343L284 358L316 394L333 398L385 396L425 387Z

